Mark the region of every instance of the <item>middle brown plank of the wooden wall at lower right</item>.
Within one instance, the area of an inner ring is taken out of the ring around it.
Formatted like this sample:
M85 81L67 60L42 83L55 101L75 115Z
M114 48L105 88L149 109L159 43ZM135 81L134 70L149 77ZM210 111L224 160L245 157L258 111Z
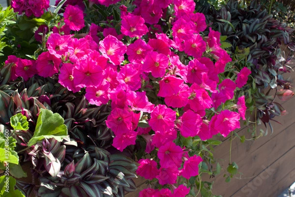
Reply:
M222 177L223 174L219 175L214 181L213 192L224 197L233 195L251 179L264 171L268 164L272 164L288 152L293 146L295 146L294 127L295 123L249 154L244 154L241 149L238 150L238 153L245 155L245 158L237 163L239 166L238 171L242 174L237 175L229 183L224 183L224 177ZM251 146L256 145L257 143L259 144L259 141L251 144ZM295 162L295 158L291 158L290 160ZM225 167L227 167L227 165ZM225 171L226 169L222 172ZM231 188L231 190L228 190L227 188Z

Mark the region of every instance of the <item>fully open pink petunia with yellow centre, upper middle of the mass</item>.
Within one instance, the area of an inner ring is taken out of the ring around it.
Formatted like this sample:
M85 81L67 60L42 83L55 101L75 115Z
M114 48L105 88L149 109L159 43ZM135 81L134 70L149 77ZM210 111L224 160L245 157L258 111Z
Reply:
M151 72L153 77L163 77L169 64L169 58L157 52L148 52L144 61L144 71Z

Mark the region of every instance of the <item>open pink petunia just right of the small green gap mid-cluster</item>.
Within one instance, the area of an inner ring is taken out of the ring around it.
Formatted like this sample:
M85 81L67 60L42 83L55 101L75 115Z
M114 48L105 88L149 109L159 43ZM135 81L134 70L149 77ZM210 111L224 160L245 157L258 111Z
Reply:
M167 131L174 128L175 120L176 112L159 104L151 112L148 124L153 131Z

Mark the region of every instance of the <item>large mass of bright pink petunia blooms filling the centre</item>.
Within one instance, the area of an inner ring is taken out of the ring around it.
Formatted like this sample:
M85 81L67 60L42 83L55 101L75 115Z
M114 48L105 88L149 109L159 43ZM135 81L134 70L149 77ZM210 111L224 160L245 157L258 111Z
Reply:
M22 10L19 1L13 2ZM89 2L109 6L117 1ZM207 25L203 14L193 13L193 0L134 3L132 12L120 6L119 30L112 23L91 23L83 36L75 36L74 31L85 27L86 8L68 4L61 25L49 33L47 50L36 61L9 56L6 64L13 64L11 80L19 76L28 80L34 74L58 75L62 86L85 93L90 104L111 105L105 123L114 133L113 146L123 151L141 136L145 152L156 154L139 160L137 173L160 185L175 184L177 177L197 176L203 161L177 144L177 136L204 141L218 133L226 137L240 128L239 120L245 117L244 97L238 98L237 111L222 103L237 99L235 90L246 83L250 71L242 69L236 81L222 78L220 82L231 58L221 48L220 33L210 29L207 37L200 35ZM168 7L174 7L174 12L162 27L159 24ZM140 196L184 197L188 193L189 189L180 185L173 193L146 189Z

